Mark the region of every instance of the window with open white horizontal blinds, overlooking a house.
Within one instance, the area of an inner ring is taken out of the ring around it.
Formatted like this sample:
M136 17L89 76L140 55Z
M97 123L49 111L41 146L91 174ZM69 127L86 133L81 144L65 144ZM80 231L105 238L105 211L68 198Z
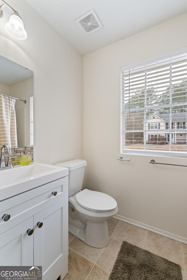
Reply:
M122 67L121 77L121 153L186 155L187 53Z

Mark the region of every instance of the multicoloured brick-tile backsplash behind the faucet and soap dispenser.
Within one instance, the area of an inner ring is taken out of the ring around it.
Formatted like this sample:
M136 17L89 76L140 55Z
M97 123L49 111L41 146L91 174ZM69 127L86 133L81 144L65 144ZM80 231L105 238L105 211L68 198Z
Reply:
M14 149L11 149L11 152L12 152L12 155L11 155L12 165L20 164L19 159L20 159L20 156L23 154L24 151L25 151L25 148L14 148ZM27 153L31 155L32 161L33 161L33 147L28 147L27 148ZM1 150L0 150L0 157L1 157ZM7 162L8 162L8 152L7 152L6 148L5 148L5 151L4 151L4 157L5 157L5 164L7 165Z

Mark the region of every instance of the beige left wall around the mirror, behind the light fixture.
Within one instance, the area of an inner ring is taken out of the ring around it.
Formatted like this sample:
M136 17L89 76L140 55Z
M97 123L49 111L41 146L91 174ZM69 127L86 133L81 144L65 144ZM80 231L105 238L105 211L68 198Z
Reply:
M83 59L24 0L9 0L24 22L27 39L4 29L11 10L0 19L0 55L34 71L34 161L55 164L83 156Z

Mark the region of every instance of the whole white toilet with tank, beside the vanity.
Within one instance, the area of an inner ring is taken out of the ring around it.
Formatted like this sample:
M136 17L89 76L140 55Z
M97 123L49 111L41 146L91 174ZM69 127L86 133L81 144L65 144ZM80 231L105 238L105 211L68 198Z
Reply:
M117 211L117 202L108 194L82 189L86 161L74 159L55 164L69 169L69 232L84 243L103 248L109 243L107 220Z

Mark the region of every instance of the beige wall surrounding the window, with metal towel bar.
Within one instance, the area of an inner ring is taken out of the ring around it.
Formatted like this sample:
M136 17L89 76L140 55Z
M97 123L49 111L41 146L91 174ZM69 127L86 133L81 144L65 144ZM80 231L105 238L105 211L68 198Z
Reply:
M187 169L149 161L187 164L186 158L120 155L120 67L186 47L186 25L183 14L83 58L84 187L113 196L122 217L184 238Z

